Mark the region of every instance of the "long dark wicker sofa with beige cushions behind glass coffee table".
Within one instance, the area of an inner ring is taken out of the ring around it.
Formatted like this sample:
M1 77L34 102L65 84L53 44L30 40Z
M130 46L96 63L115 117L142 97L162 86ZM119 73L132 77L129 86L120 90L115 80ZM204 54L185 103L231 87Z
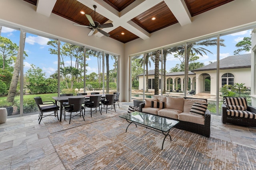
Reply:
M151 104L148 103L150 100ZM162 102L160 108L152 107L153 102ZM207 104L207 99L154 95L152 99L145 99L145 102L140 104L139 111L178 120L180 123L176 128L210 137L210 111L206 109L202 116L191 114L195 103Z

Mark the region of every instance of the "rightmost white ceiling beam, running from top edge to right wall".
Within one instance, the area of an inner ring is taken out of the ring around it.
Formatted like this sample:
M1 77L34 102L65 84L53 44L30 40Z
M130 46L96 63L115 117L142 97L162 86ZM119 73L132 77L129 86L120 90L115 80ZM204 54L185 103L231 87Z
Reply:
M192 19L184 0L164 0L181 26L192 23Z

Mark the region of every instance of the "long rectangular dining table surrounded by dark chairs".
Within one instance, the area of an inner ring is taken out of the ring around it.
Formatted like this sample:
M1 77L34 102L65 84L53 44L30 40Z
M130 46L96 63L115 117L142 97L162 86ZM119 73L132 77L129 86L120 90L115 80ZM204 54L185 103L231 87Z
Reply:
M69 98L84 98L84 100L90 99L90 96L101 96L101 98L106 98L106 94L91 94L91 95L80 95L80 96L56 96L52 97L55 100L55 104L58 105L60 103L60 121L62 119L63 112L63 103L68 102Z

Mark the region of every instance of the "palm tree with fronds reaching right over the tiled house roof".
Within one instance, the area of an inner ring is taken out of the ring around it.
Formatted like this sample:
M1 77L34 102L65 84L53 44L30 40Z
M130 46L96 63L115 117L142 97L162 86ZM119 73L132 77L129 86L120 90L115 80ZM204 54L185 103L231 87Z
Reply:
M190 61L190 55L196 54L202 56L203 54L210 53L212 54L211 51L208 49L205 49L202 46L216 46L218 40L217 39L204 39L202 41L197 41L194 43L190 43L187 45L187 52L186 52L186 57L187 61ZM220 39L220 46L225 47L224 45L224 39ZM185 55L185 49L183 48L181 51L179 51L180 55ZM188 69L189 69L189 62L186 63L186 89L188 90Z

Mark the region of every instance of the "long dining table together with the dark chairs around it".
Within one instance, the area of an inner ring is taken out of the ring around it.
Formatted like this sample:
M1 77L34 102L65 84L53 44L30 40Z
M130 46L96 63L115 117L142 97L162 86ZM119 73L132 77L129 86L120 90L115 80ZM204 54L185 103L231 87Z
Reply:
M72 117L80 116L83 117L86 111L90 111L90 116L92 113L97 112L99 108L100 114L102 115L102 109L114 109L116 111L116 104L119 107L119 92L114 92L114 94L100 94L99 92L91 92L90 95L87 93L78 93L76 96L73 94L60 94L60 96L52 97L55 103L52 101L42 101L41 97L34 97L36 105L39 109L39 124L43 117L55 116L58 120L62 120L62 115L64 120L66 120L66 112L69 113L69 124ZM89 110L86 110L89 108ZM58 117L58 111L60 111L60 119ZM51 113L49 113L51 112ZM73 115L72 115L73 113Z

